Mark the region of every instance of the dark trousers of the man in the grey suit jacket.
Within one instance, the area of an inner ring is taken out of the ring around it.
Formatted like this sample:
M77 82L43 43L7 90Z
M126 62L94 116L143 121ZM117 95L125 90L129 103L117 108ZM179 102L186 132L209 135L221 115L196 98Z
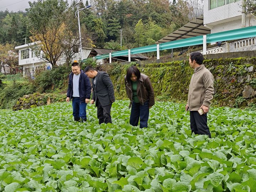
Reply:
M99 119L99 124L112 123L111 115L110 115L110 110L111 110L112 104L102 107L98 98L97 98L96 103L97 103L97 117Z

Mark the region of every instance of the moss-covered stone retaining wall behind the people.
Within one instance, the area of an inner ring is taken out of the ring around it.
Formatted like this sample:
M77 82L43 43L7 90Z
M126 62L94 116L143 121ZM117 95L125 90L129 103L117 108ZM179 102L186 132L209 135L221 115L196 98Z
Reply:
M214 76L213 104L245 107L256 103L256 57L204 60ZM126 98L124 75L130 65L106 64L99 70L110 74L117 99ZM141 73L149 76L157 100L187 100L188 87L193 74L188 60L169 63L137 65Z

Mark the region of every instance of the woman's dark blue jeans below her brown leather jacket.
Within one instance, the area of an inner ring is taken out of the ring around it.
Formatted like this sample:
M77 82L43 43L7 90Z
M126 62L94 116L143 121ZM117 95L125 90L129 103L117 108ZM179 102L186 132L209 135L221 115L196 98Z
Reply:
M130 124L137 126L140 119L140 128L148 127L149 105L148 101L141 105L140 103L132 102L132 110L130 114Z

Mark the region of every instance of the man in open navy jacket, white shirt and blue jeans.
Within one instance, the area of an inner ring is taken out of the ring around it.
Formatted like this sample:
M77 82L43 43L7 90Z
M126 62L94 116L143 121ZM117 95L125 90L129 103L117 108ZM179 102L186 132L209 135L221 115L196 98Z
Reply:
M75 121L86 122L86 105L91 97L91 84L87 75L80 69L79 63L71 65L66 102L72 99L73 116Z

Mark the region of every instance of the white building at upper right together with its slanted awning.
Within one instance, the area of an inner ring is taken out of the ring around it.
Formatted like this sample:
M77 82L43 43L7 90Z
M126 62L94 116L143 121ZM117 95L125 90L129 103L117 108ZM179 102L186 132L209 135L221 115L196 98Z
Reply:
M243 0L204 0L202 16L194 18L157 43L255 26L255 17L242 14L242 2ZM207 54L256 50L256 37L216 43L207 47Z

